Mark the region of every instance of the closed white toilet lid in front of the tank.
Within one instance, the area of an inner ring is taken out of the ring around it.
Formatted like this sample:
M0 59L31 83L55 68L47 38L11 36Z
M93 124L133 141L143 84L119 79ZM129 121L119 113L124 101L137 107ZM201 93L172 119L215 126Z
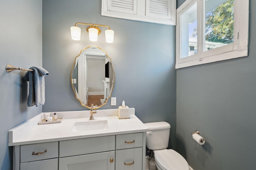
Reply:
M175 150L154 150L155 159L166 170L189 170L188 162Z

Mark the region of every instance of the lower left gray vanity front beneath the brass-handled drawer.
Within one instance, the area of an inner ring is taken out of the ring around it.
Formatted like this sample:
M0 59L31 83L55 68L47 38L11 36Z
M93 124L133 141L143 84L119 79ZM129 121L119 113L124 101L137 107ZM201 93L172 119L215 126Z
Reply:
M58 158L24 162L20 164L20 170L58 170Z

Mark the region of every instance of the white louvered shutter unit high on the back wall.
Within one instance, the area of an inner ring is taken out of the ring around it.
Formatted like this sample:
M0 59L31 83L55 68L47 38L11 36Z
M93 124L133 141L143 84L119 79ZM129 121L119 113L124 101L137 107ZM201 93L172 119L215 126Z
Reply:
M101 15L176 25L176 0L102 0Z

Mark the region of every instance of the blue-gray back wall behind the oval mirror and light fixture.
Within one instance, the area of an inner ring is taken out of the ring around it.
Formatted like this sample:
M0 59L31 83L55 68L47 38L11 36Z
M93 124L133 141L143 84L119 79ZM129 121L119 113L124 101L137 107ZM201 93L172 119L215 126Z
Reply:
M81 41L70 36L76 22L109 25L115 31L114 43L106 43L104 30L97 42L88 40L81 26ZM122 20L101 16L101 0L43 1L43 66L50 72L46 82L43 111L85 110L75 99L70 72L80 50L96 45L107 51L116 72L110 102L100 109L116 109L125 100L144 122L168 121L170 147L176 145L175 26Z

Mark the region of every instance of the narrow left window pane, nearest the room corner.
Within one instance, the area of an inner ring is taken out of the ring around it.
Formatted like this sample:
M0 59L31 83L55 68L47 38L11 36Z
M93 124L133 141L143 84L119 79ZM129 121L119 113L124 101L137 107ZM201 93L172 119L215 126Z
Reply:
M181 58L197 53L196 4L181 15Z

